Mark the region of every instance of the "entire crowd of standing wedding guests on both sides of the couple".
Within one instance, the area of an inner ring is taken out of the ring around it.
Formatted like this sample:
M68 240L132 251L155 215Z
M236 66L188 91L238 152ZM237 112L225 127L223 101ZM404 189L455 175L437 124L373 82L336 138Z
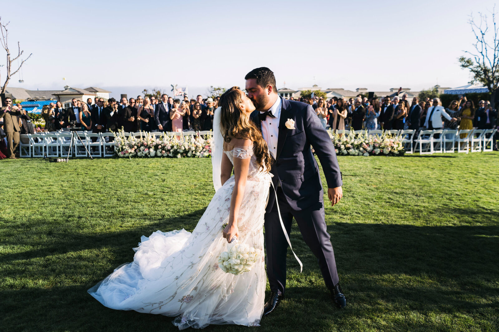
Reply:
M294 100L293 97L289 99ZM87 99L86 103L73 99L67 109L60 102L43 106L41 116L45 120L44 131L72 126L94 133L117 131L122 127L127 132L211 130L219 100L220 97L203 99L201 95L196 99L183 97L180 100L166 94L159 100L155 96L122 98L120 101L96 97ZM447 108L442 106L439 98L420 101L414 97L409 101L407 94L393 98L386 96L381 101L377 97L368 99L361 95L348 100L333 97L329 101L322 97L300 97L298 101L310 104L324 128L333 130L492 129L496 127L498 116L489 101L480 101L475 107L466 97L452 101ZM20 110L20 133L28 133L29 115L22 110L21 104L14 108ZM466 134L462 135L466 137ZM3 139L1 141L0 152L10 155L6 151L7 144L2 144L5 143ZM494 140L494 149L498 150L497 140ZM2 157L5 156L0 155Z

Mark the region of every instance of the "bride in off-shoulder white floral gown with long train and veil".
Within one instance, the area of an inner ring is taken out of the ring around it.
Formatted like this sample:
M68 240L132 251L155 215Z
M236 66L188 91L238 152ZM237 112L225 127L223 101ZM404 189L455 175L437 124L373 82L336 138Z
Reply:
M259 326L271 157L250 120L255 108L243 91L229 89L219 106L212 143L216 194L203 217L192 233L158 230L142 236L133 262L88 290L104 306L176 317L173 324L180 330L209 324ZM251 271L239 275L223 272L217 262L234 238L262 252Z

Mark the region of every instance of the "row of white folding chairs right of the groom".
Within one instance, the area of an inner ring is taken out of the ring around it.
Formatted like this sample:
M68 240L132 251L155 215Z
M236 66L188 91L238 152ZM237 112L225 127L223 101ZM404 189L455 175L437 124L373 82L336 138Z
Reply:
M336 130L338 134L348 133L348 130ZM363 133L365 130L355 130L355 134ZM402 136L402 142L406 153L419 152L420 154L452 153L458 152L482 152L493 151L494 135L497 129L436 129L420 130L418 136L416 130L385 130L385 132ZM383 130L368 130L369 135L381 136ZM439 137L435 137L440 134ZM461 135L466 137L461 138ZM413 146L413 141L416 146Z

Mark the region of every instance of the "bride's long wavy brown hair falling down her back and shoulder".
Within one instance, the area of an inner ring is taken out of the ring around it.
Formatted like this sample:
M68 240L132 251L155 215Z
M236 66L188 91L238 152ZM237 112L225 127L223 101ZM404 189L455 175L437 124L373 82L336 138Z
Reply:
M256 156L256 163L266 172L270 171L272 157L268 153L267 142L263 139L261 132L251 121L250 116L241 109L243 103L242 91L239 87L232 87L227 90L219 101L222 108L220 127L224 135L224 140L229 143L232 137L238 139L250 139L253 142L253 154Z

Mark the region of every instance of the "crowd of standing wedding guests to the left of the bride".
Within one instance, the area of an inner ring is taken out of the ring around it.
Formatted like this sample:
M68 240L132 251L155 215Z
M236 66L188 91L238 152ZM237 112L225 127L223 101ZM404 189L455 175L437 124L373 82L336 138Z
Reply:
M73 99L64 109L60 102L43 107L45 131L55 131L71 126L95 133L117 131L178 131L211 130L213 114L220 97L215 99L198 95L196 99L173 99L166 94L158 100L155 96L137 98L88 99L85 102Z

